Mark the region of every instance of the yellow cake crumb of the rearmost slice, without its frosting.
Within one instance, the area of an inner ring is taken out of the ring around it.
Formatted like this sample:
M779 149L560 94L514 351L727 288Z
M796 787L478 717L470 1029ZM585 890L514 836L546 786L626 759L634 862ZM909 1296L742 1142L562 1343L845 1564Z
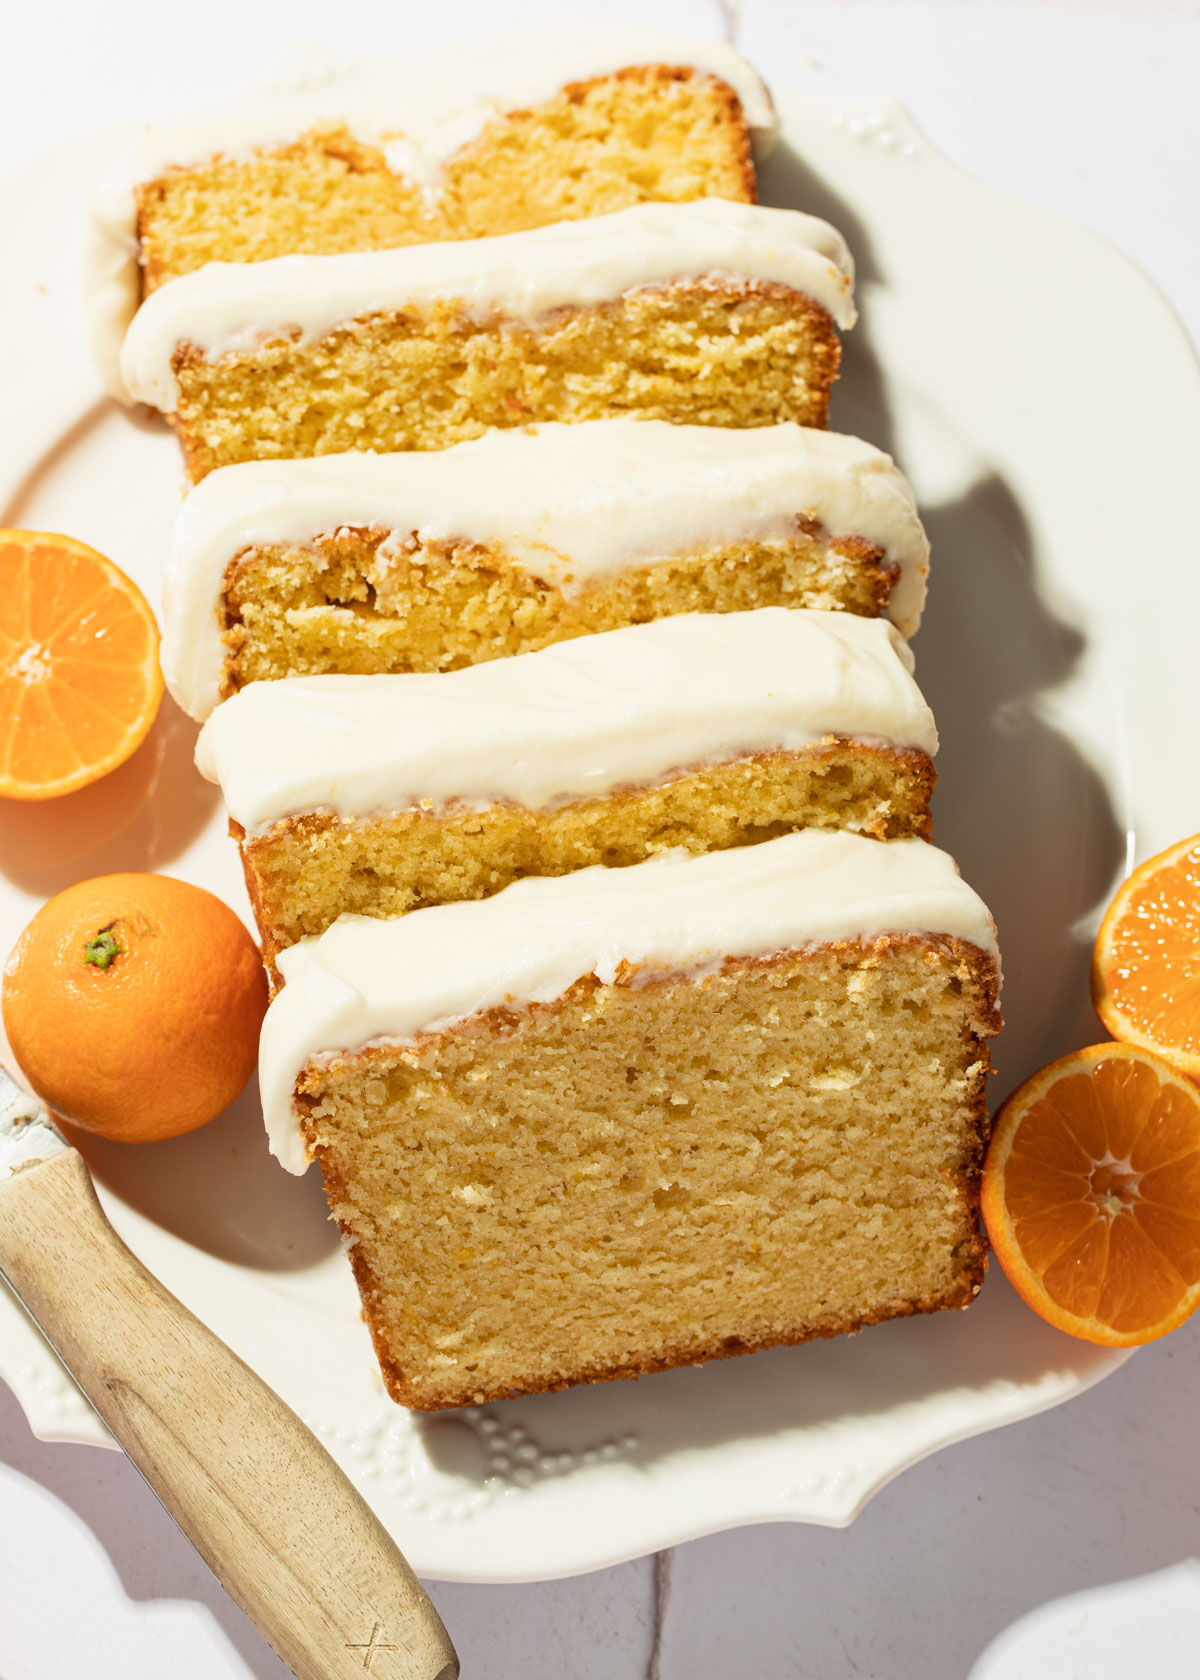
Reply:
M755 202L738 97L703 72L637 66L494 118L445 160L434 195L345 126L170 168L138 188L143 286L205 262L516 234L692 198Z

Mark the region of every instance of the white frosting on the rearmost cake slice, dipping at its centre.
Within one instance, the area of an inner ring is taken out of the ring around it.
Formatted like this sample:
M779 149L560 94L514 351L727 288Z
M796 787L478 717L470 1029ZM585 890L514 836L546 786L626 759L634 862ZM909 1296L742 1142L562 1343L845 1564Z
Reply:
M311 64L289 86L255 87L187 123L146 128L126 144L92 208L84 286L92 349L114 396L123 396L119 349L138 307L134 188L171 165L249 158L316 126L345 124L380 146L390 168L435 192L445 160L492 118L551 99L568 82L634 64L687 66L718 76L741 101L755 150L778 123L766 87L729 47L679 40L622 24L539 24L514 34L382 59Z

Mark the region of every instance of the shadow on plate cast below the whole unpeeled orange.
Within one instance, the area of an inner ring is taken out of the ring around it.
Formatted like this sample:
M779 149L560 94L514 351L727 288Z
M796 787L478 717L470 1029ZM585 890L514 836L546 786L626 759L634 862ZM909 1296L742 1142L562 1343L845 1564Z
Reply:
M338 1248L319 1173L294 1178L267 1149L257 1079L210 1126L161 1144L64 1129L101 1189L218 1260L299 1272Z

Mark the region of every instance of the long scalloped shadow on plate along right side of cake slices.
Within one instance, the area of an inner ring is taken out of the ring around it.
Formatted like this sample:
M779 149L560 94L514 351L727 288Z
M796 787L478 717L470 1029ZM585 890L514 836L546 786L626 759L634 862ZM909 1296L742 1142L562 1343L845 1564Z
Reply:
M765 203L820 215L840 228L859 282L886 284L871 232L790 146L761 171ZM1076 746L1042 716L1039 696L1062 684L1082 637L1039 596L1034 534L1012 487L971 460L950 415L921 413L958 457L966 487L924 499L933 549L918 679L938 721L934 835L990 906L1005 968L1002 1097L1054 1055L1101 1037L1087 995L1091 924L1126 855L1126 822ZM913 418L913 415L909 418ZM897 454L871 302L844 344L834 425ZM901 465L904 462L901 460Z

